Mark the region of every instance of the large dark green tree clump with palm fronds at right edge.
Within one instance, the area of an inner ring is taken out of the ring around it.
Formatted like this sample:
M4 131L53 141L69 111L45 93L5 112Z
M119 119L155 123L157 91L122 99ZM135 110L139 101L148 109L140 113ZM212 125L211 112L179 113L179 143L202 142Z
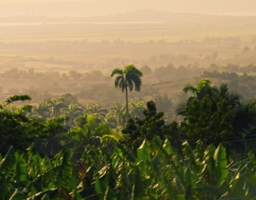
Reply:
M193 148L201 140L205 146L222 142L232 154L247 152L247 142L241 140L254 138L255 102L241 101L240 94L230 93L227 84L217 88L208 79L183 88L183 92L189 91L193 94L177 107L177 115L183 116L178 126L182 139L188 140Z

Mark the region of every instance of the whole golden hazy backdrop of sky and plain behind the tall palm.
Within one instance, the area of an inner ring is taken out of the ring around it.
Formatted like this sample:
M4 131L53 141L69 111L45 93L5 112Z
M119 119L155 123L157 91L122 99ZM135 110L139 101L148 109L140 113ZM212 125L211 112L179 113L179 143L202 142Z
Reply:
M0 100L73 94L122 104L109 74L128 64L144 73L134 101L167 94L175 104L207 71L252 97L218 73L255 76L254 63L255 0L0 0Z

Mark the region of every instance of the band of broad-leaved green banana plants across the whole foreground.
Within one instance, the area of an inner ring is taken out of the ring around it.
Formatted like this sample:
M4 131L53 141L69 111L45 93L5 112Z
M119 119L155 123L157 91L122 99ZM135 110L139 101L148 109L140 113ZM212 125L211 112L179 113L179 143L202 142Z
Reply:
M256 159L253 153L228 163L223 145L205 148L199 141L182 153L159 136L143 140L137 157L115 142L84 151L76 169L67 151L52 160L32 146L20 153L11 147L0 160L3 199L254 199Z

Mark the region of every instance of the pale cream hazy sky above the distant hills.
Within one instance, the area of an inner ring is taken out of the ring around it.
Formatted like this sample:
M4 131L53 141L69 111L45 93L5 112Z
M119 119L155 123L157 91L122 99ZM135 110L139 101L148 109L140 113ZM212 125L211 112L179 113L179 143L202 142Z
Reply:
M0 0L0 16L91 16L137 9L201 14L256 15L256 0Z

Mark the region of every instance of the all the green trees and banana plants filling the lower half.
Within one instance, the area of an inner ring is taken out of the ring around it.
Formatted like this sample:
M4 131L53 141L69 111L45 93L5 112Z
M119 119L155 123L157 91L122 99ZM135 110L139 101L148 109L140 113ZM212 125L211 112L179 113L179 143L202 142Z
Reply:
M255 101L209 79L183 92L172 122L152 100L126 113L72 94L20 107L30 97L10 97L0 106L2 199L255 199Z

